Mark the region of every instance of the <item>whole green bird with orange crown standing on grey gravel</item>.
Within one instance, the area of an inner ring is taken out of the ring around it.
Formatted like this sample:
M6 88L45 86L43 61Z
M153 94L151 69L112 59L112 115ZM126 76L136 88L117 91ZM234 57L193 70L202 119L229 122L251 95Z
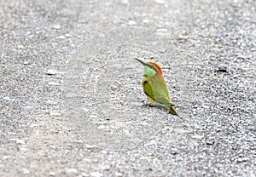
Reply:
M164 106L169 113L177 115L161 67L151 61L145 63L137 58L134 59L143 64L144 73L142 85L149 102L153 105Z

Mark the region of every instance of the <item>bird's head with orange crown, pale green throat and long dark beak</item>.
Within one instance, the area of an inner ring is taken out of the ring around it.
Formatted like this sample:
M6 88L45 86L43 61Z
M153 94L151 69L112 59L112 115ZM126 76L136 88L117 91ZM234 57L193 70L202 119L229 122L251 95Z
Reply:
M138 62L140 62L141 64L143 64L144 66L144 77L154 77L157 74L162 75L162 70L160 68L160 66L158 66L157 64L153 63L153 62L148 62L148 63L144 63L142 60L139 60L137 58L134 58L135 60L137 60Z

